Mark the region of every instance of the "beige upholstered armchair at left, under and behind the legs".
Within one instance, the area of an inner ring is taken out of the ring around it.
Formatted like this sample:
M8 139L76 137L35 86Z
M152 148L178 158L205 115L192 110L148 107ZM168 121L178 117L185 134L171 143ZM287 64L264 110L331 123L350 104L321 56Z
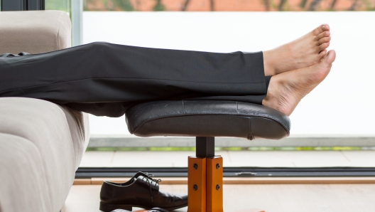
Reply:
M0 12L0 54L68 48L70 31L62 11ZM0 211L60 211L88 141L87 114L44 100L0 97Z

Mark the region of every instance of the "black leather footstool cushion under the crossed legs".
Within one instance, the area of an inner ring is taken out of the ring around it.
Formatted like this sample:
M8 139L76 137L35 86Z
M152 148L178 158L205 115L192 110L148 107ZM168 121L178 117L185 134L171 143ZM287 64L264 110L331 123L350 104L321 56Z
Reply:
M126 112L129 132L140 137L243 137L281 139L288 116L263 105L214 100L145 102Z

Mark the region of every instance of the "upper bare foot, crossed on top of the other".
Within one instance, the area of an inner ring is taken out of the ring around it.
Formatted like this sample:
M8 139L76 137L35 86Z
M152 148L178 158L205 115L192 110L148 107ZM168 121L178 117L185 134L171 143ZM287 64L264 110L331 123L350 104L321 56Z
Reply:
M330 26L322 24L295 41L263 51L264 73L276 75L319 63L330 46Z

